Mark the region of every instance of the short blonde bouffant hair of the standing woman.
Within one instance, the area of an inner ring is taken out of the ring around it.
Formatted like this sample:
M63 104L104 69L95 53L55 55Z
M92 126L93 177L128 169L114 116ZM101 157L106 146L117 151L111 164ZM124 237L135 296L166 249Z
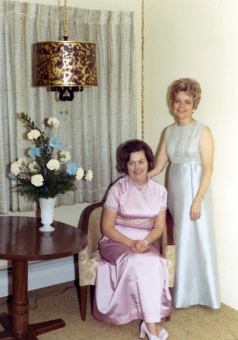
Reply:
M172 105L175 95L180 91L185 92L188 96L193 97L193 108L196 110L201 100L202 93L199 83L196 80L190 78L180 78L175 80L171 85L170 91L170 102Z

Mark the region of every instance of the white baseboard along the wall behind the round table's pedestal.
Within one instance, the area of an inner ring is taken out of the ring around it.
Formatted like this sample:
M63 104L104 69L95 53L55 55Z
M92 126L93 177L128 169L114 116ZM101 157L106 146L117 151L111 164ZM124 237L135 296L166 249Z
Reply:
M68 282L79 278L77 256L28 263L28 290ZM12 269L0 269L0 297L12 293Z

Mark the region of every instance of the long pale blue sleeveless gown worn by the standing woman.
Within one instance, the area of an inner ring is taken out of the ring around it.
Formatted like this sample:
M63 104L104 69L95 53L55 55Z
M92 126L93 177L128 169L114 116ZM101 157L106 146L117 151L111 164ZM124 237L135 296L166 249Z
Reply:
M213 222L211 185L202 202L202 214L191 221L190 206L202 177L199 137L204 125L173 124L165 132L171 161L168 176L168 208L173 216L176 263L172 305L220 307L219 278Z

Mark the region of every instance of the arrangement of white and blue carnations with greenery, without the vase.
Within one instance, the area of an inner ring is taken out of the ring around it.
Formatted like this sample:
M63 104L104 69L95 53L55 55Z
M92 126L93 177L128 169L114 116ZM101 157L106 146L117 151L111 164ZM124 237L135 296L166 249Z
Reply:
M19 158L10 166L8 176L17 180L16 188L20 195L37 202L41 198L54 198L58 194L75 191L75 180L92 179L91 170L85 172L76 163L69 163L70 153L59 150L62 145L59 138L46 136L24 112L20 114L20 118L30 130L28 139L35 144L29 148L28 155L32 160L28 164L25 159ZM47 120L47 125L49 129L57 128L59 121L51 117ZM54 150L59 150L59 159L53 158Z

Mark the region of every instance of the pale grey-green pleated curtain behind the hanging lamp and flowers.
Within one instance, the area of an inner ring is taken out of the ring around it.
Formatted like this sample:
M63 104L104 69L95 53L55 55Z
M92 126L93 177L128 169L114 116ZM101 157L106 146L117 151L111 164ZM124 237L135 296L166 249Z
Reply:
M77 191L60 195L57 206L101 200L118 178L117 147L136 136L133 21L132 12L68 8L69 40L96 43L98 86L66 103L32 84L34 43L63 40L63 7L0 0L0 214L36 208L12 190L15 182L7 176L10 163L27 159L33 146L21 112L42 130L46 118L56 117L60 126L51 136L61 139L71 161L93 171L91 182L76 181Z

